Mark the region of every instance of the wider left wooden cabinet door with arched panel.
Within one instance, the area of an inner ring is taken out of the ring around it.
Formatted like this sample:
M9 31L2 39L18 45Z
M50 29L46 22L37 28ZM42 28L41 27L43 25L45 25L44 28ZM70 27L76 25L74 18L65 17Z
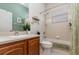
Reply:
M24 54L24 42L14 43L9 46L0 48L1 55L23 55Z

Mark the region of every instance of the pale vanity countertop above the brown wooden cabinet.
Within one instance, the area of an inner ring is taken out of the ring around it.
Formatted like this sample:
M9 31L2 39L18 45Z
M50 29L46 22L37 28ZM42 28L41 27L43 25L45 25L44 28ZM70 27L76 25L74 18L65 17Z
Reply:
M0 44L26 40L34 37L39 37L39 35L28 34L28 35L16 35L16 36L0 36Z

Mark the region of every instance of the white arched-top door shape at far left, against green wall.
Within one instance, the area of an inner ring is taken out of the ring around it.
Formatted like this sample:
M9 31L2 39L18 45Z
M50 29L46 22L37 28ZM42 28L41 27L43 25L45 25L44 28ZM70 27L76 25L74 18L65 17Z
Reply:
M0 9L0 32L12 30L12 13Z

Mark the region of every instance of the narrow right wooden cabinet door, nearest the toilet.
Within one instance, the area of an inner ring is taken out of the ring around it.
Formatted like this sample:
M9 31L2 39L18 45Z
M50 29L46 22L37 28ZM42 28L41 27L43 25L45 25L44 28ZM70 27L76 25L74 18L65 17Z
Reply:
M39 55L39 39L31 39L28 41L28 54Z

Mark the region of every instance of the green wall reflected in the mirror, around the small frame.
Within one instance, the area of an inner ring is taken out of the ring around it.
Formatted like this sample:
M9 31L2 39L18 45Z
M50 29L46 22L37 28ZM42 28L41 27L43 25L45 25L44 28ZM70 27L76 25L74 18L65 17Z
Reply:
M12 29L13 31L18 30L22 31L24 24L24 18L28 18L29 16L29 9L24 7L19 3L0 3L0 9L7 10L12 12ZM22 23L17 23L17 17L22 19Z

